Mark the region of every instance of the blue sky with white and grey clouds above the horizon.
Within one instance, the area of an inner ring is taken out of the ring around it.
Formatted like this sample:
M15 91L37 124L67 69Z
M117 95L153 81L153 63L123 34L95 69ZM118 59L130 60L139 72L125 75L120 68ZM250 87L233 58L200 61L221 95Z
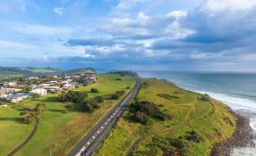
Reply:
M0 66L256 71L255 0L0 0Z

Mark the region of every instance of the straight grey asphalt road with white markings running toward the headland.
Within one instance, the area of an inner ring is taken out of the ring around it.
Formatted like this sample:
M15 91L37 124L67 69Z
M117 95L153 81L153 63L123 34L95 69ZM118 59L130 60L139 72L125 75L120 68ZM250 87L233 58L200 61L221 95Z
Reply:
M137 94L141 86L139 78L136 79L136 85L133 86L132 90L127 94L124 99L118 103L115 108L107 113L107 115L101 119L98 124L93 127L88 135L81 139L79 144L73 148L68 156L90 156L102 143L102 141L110 133L112 127L114 127L116 121L121 117L125 108L132 102L132 99Z

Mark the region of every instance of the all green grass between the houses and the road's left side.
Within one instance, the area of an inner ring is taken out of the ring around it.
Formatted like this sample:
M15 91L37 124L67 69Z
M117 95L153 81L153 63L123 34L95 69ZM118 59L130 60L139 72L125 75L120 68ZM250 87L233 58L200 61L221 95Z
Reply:
M116 80L122 78L122 80ZM98 75L94 84L76 90L86 91L89 97L111 95L116 91L125 90L135 84L132 77L121 77L118 74ZM90 93L90 88L98 88L98 93ZM74 103L73 111L66 112L66 105L57 100L57 94L48 94L38 99L26 99L17 105L0 107L0 155L7 155L28 136L33 124L24 124L19 115L21 107L34 108L37 103L45 103L46 111L39 115L38 131L28 144L16 156L63 156L79 142L108 111L114 108L118 100L105 100L101 107L93 112L82 111L82 103ZM11 140L11 141L10 141Z

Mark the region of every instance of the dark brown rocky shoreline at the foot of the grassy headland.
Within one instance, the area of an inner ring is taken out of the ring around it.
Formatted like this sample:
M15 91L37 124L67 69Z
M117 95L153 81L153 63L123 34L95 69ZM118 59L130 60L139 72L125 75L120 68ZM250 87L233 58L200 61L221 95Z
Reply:
M230 156L234 148L255 147L256 135L250 127L247 111L235 111L237 125L235 133L226 141L215 144L211 156Z

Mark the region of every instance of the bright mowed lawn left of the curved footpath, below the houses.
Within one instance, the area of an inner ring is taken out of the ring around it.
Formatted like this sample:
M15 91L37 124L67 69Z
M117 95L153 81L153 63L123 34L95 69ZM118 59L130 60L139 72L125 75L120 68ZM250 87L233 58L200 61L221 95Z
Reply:
M11 105L0 107L0 155L7 155L30 134L33 125L22 123L22 110Z

